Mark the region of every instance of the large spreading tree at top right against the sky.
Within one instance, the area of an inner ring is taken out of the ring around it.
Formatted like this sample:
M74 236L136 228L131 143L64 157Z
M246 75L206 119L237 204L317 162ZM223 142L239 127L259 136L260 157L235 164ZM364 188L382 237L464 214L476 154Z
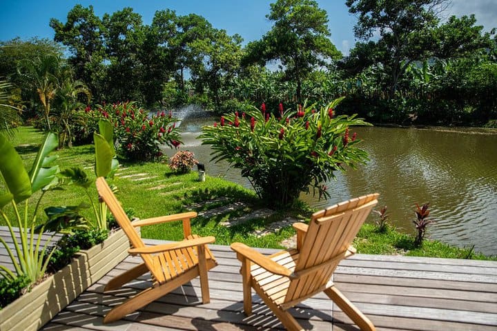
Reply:
M386 85L390 99L396 95L400 77L414 61L462 56L489 45L489 34L482 34L483 27L474 26L474 16L451 17L439 26L447 0L347 0L346 4L349 12L358 14L355 37L367 41L374 32L380 34L378 41L358 43L346 66L353 68L355 63L363 69L371 65L371 60L382 63L389 72Z

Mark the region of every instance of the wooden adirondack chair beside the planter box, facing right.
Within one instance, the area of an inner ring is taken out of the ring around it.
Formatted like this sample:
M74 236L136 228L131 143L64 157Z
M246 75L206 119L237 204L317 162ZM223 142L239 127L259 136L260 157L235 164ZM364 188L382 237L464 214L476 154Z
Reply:
M196 217L197 213L184 212L182 214L143 219L131 223L103 177L97 178L97 190L101 201L107 204L117 223L119 223L130 239L133 248L130 248L128 252L133 255L139 254L144 260L143 263L137 265L135 268L111 279L107 283L104 292L120 288L121 285L149 271L153 278L152 287L139 292L135 297L110 310L104 318L104 323L121 319L124 315L144 307L144 305L155 299L159 299L159 297L166 295L171 290L178 288L197 276L200 277L202 303L208 303L210 297L207 271L214 268L217 263L206 244L213 243L215 238L202 238L196 234L191 234L190 219ZM135 230L135 227L138 226L170 221L183 221L183 241L147 247Z

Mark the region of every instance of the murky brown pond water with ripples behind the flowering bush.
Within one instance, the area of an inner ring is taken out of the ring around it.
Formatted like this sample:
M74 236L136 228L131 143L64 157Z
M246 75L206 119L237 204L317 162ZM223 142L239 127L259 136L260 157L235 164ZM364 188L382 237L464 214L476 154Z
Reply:
M200 128L212 125L208 117L182 121L183 150L195 153L211 176L251 188L240 170L227 163L212 163L211 149L197 139ZM428 232L432 239L497 254L497 134L480 130L353 128L363 139L371 159L358 170L338 173L327 183L331 198L318 201L312 194L301 199L313 208L380 193L378 208L387 205L391 223L398 230L414 233L416 203L430 203L435 221ZM172 156L175 151L164 152ZM371 214L369 221L378 217Z

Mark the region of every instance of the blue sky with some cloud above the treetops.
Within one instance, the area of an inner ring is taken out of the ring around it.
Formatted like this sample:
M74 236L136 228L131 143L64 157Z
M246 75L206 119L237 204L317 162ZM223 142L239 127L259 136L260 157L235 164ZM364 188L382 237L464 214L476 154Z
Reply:
M218 29L228 34L238 33L244 44L260 39L271 28L266 19L269 3L273 0L0 0L0 40L14 37L27 39L41 37L52 39L54 32L48 26L54 17L66 22L68 11L77 3L92 5L95 13L101 17L104 13L113 13L124 7L131 7L142 15L144 24L150 24L156 10L170 9L177 14L195 13L205 17ZM345 0L318 0L320 8L327 10L331 40L344 54L353 47L353 26L355 17L348 12ZM476 14L478 24L485 30L497 27L497 0L453 0L447 15Z

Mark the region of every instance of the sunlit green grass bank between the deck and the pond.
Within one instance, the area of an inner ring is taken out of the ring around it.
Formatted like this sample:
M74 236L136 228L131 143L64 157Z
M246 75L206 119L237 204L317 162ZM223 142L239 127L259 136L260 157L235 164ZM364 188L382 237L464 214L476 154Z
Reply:
M34 128L19 128L12 141L21 154L26 167L30 167L41 143L43 134ZM93 173L94 149L92 145L77 146L56 151L57 164L61 169L74 166L84 168L88 176ZM193 232L216 237L216 243L228 245L242 241L261 248L282 248L282 241L295 234L291 225L282 220L309 221L313 210L302 204L293 210L273 212L258 204L254 192L221 178L208 177L205 182L197 181L197 173L178 175L165 163L124 163L112 183L117 186L117 197L126 210L140 219L186 210L199 212L193 220ZM97 197L95 187L90 190ZM36 198L36 197L35 197ZM84 191L69 186L64 192L49 192L43 198L43 208L50 205L79 205L86 202ZM34 203L31 203L34 205ZM38 219L46 219L43 208ZM85 217L92 217L87 209ZM3 220L0 221L3 223ZM280 226L275 227L275 224ZM230 226L231 225L231 226ZM267 229L272 229L267 231ZM265 232L265 233L264 233ZM142 229L142 236L153 239L178 240L182 238L180 223L148 226ZM440 241L425 241L421 247L413 245L413 237L389 228L378 232L376 226L365 224L355 239L358 252L364 254L405 254L421 257L444 257L458 259L494 259L468 249L456 248Z

